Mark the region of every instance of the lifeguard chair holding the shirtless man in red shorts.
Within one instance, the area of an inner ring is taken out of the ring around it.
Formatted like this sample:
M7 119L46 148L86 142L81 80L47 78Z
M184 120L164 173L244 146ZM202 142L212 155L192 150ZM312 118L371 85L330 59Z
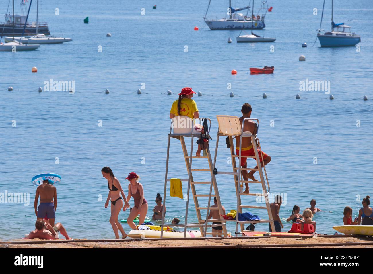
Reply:
M275 225L273 223L273 217L272 217L272 211L270 208L270 203L268 199L268 193L269 193L269 182L268 182L268 177L267 177L267 172L266 172L266 167L263 166L260 168L260 159L258 155L257 148L259 148L260 152L260 142L257 137L257 135L253 135L251 132L244 132L244 124L245 121L247 120L255 120L257 122L257 128L259 128L259 120L258 119L253 119L253 118L245 118L242 122L242 127L241 123L239 122L239 118L237 116L226 116L226 115L217 115L217 122L219 123L219 128L217 130L217 138L216 138L216 149L215 149L215 157L214 157L214 165L213 165L213 174L212 174L212 179L211 181L216 181L215 175L216 174L232 174L234 177L234 182L235 182L235 188L236 188L236 197L237 197L237 215L235 220L224 220L224 221L234 221L236 222L236 232L235 234L241 234L238 233L238 224L241 226L241 232L245 231L244 224L246 223L270 223L272 231L275 230ZM231 159L232 159L232 168L233 172L224 172L224 171L217 171L216 169L216 157L217 157L217 150L218 150L218 145L219 145L219 137L220 136L227 136L229 139L229 144L230 144L230 151L231 151ZM239 147L239 155L235 154L235 145L233 145L233 137L234 138L240 138L240 147ZM241 164L236 166L236 158L238 158L238 163L241 163L241 158L246 157L246 158L254 158L254 156L243 156L241 155L241 145L242 145L242 138L243 137L250 137L251 138L251 143L253 144L253 149L255 152L255 158L257 162L258 169L251 169L251 168L241 168ZM263 158L262 158L263 161ZM243 180L242 176L242 170L256 170L259 173L260 176L260 181L249 181L249 180ZM263 175L263 170L264 174L266 176L266 181L264 181L264 175ZM261 184L262 186L262 193L240 193L240 184L243 183L257 183ZM268 186L268 191L267 191L267 186ZM241 202L241 196L264 196L264 201L266 203L265 207L260 207L256 205L242 205ZM255 221L239 221L238 220L238 213L242 213L242 208L253 208L253 209L266 209L268 213L268 220L255 220Z

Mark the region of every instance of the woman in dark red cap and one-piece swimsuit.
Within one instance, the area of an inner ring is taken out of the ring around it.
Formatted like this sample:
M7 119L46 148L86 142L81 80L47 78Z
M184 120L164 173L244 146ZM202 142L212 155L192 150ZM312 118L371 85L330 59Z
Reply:
M127 202L131 199L131 196L134 197L135 205L132 208L131 212L129 212L129 216L127 218L127 224L132 229L137 229L134 220L140 214L139 217L139 224L144 223L146 214L148 212L148 202L144 198L144 188L142 187L141 183L138 182L140 177L131 172L128 174L127 180L129 180L128 184L128 196Z

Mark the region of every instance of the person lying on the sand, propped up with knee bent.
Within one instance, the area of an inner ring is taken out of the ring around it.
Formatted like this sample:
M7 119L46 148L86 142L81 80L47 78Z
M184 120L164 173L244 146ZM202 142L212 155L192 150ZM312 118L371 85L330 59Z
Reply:
M35 223L35 230L31 231L26 237L27 239L41 239L41 240L53 240L59 239L59 233L65 236L66 240L72 240L65 227L61 223L57 223L55 226L51 226L44 220L37 220Z

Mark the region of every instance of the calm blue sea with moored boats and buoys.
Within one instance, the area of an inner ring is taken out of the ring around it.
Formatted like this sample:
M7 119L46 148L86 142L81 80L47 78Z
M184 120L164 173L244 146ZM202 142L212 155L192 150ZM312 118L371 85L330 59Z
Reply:
M224 17L228 1L211 2L207 18ZM39 20L48 22L52 35L73 41L41 45L31 52L1 53L0 192L30 193L30 202L28 206L0 203L0 238L18 239L34 229L36 188L31 178L44 172L62 177L56 185L56 221L73 238L114 237L110 209L104 208L108 194L107 181L101 175L104 166L113 169L124 189L129 172L141 176L151 217L157 193L163 196L170 106L185 86L203 93L194 100L201 116L213 122L212 153L216 115L238 116L242 104L252 105L252 117L260 119L261 147L272 157L267 166L270 191L286 195L280 209L283 231L291 227L285 219L292 207L299 205L303 211L311 199L322 210L314 216L319 233L335 232L332 226L342 224L345 206L352 207L353 217L357 217L361 199L373 197L373 4L369 0L353 5L348 0L335 1L335 21L351 25L361 35L361 47L321 48L319 41L311 45L320 25L322 0L268 2L273 11L267 13L266 28L255 33L276 37L276 42L237 44L239 31L207 28L203 22L207 0L40 1ZM322 26L326 30L330 30L329 2ZM247 3L237 1L234 7ZM7 4L0 2L2 14ZM18 1L15 7L20 13ZM55 15L56 8L59 15ZM142 8L145 15L141 15ZM317 15L313 15L314 8ZM88 24L83 23L86 16ZM30 17L35 21L35 0ZM200 30L194 31L194 26ZM106 37L108 32L112 37ZM227 43L229 37L232 44ZM303 42L307 48L301 47ZM307 60L299 62L300 55ZM264 65L275 66L275 73L248 73L249 67ZM31 73L34 66L37 73ZM231 75L232 69L237 75ZM38 87L50 79L75 81L75 93L39 93ZM329 100L323 91L300 91L300 81L306 79L330 81L335 99ZM7 91L8 86L14 90ZM138 95L141 86L145 89ZM106 88L110 94L103 93ZM174 95L167 95L168 89ZM233 98L227 95L230 92L235 94ZM266 99L261 97L263 92ZM295 99L297 93L300 100ZM364 95L370 100L363 101ZM170 151L169 177L187 178L177 140L172 140ZM229 156L222 140L219 170L231 171ZM194 164L207 165L204 160ZM249 164L255 165L252 160ZM210 180L204 174L200 178ZM217 182L228 212L236 206L233 178L218 175ZM186 192L186 185L183 188ZM259 189L251 185L250 190ZM249 199L254 203L251 196L245 199L245 204L250 204ZM206 201L200 199L200 205ZM167 221L174 217L184 221L184 200L168 196L166 207ZM252 212L266 217L266 211ZM128 211L121 212L119 218L127 216ZM197 219L192 201L189 218L191 222ZM124 228L129 231L127 225ZM267 229L267 224L256 226L256 230ZM235 225L229 223L228 231L234 230Z

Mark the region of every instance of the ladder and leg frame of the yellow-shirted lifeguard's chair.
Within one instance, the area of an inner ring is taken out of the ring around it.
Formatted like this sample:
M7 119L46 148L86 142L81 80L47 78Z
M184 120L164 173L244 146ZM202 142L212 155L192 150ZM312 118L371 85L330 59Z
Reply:
M210 119L209 119L210 120ZM210 120L211 122L211 120ZM207 156L189 156L188 155L188 149L186 148L185 144L185 139L184 137L191 137L191 149L190 149L190 155L193 155L193 142L194 142L194 137L197 137L198 134L169 134L169 141L168 141L168 146L167 146L167 161L166 161L166 177L165 177L165 185L164 185L164 198L163 198L163 205L166 203L166 185L167 181L167 173L168 173L168 162L169 162L169 147L170 147L170 137L179 139L181 142L181 147L182 151L184 154L184 159L185 159L185 164L186 164L186 169L188 170L188 180L182 180L182 182L188 181L188 188L187 188L187 200L186 200L186 210L185 210L185 224L184 225L177 225L179 227L184 227L184 237L186 237L186 229L188 227L198 227L201 230L201 233L203 234L204 237L206 237L206 234L224 234L224 236L227 236L227 230L225 226L225 222L220 220L220 219L210 219L208 220L208 215L210 210L219 210L219 215L223 215L223 209L222 205L220 202L220 196L219 196L219 190L217 188L217 183L216 180L211 180L209 182L201 182L201 181L194 181L192 172L193 171L210 171L210 174L213 174L213 163L211 159L211 154L210 154L210 149L206 149L206 155ZM209 169L192 169L192 159L204 159L207 158L209 162ZM209 194L197 194L197 191L195 189L195 185L210 185L210 193ZM214 189L214 194L212 194L212 189ZM197 213L197 219L198 223L191 223L188 224L188 208L189 208L189 196L190 196L190 190L192 192L192 197L195 205L195 210ZM209 203L207 207L200 207L199 202L198 202L198 197L209 197ZM211 208L210 207L210 201L211 197L216 197L217 201L217 207ZM206 214L206 219L202 219L202 214L201 210L207 210ZM162 225L161 225L161 237L163 236L163 225L164 225L164 212L162 212ZM219 222L222 221L221 224L208 224L209 222ZM223 233L207 233L206 229L207 227L215 227L215 226L222 226L223 227Z

